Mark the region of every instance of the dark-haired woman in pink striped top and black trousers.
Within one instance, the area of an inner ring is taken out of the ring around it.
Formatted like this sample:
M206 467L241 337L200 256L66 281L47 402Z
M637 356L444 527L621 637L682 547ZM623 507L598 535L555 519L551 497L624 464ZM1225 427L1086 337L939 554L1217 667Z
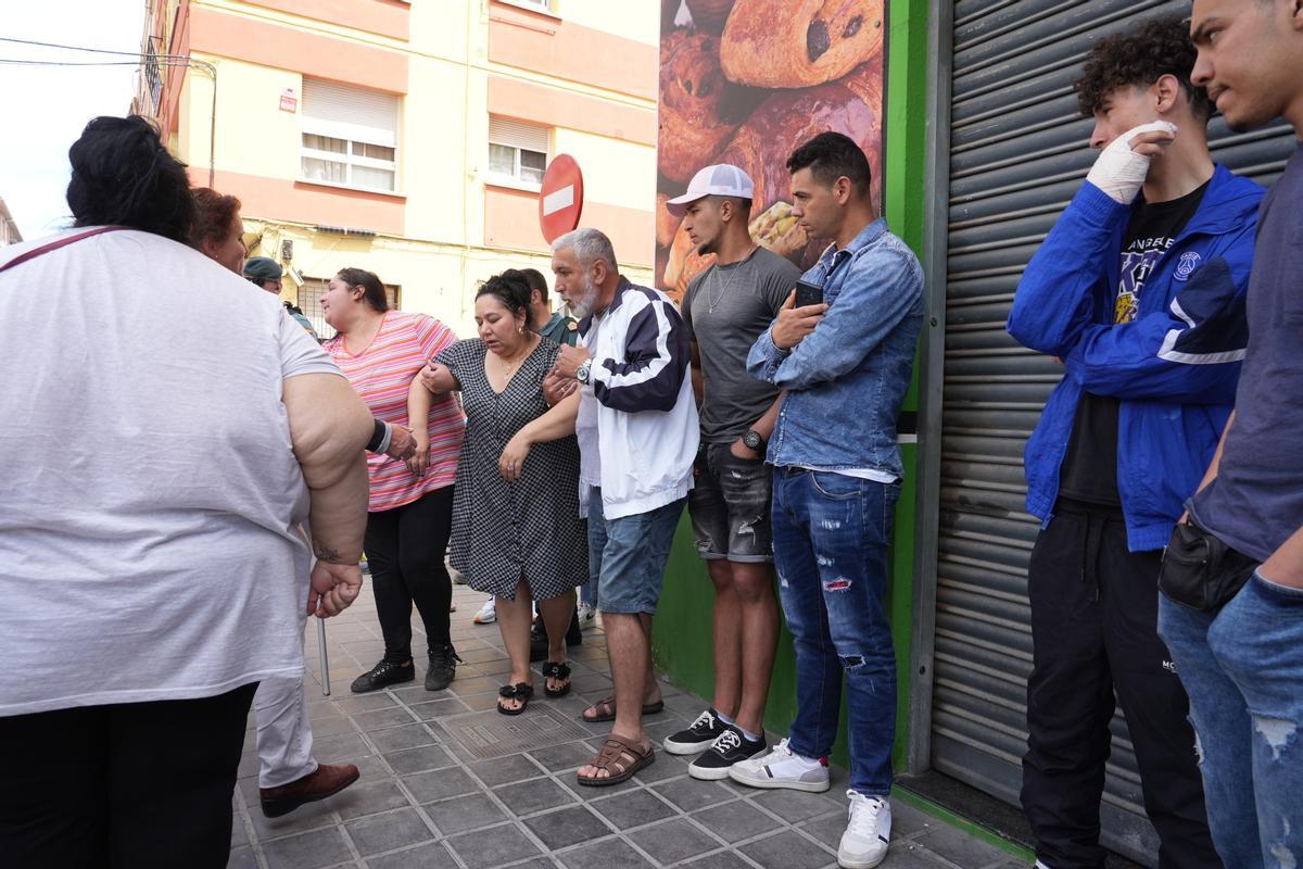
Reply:
M425 688L442 691L456 677L460 661L450 633L452 578L443 556L465 420L451 396L431 401L429 392L412 384L426 360L457 336L433 317L390 309L380 279L364 268L340 270L322 296L322 309L339 332L323 347L371 414L410 429L416 438L416 455L407 461L375 453L366 459L371 482L366 560L384 657L353 680L352 691L361 694L416 679L413 603L429 653Z

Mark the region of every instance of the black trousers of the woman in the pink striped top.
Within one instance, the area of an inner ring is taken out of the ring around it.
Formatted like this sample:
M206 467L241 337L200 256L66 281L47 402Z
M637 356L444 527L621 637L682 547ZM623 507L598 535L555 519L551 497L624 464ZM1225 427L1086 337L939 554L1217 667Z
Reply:
M452 486L426 492L410 504L366 517L366 563L371 568L375 614L384 634L384 659L412 658L412 605L430 649L452 645L448 607L452 577L443 558L452 532Z

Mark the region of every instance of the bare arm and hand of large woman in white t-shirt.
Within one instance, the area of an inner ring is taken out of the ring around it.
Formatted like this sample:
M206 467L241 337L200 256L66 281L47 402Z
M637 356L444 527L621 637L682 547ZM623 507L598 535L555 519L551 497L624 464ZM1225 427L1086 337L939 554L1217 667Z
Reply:
M365 447L374 425L362 400L337 374L302 374L284 380L294 457L310 492L309 526L318 564L308 612L337 615L362 588L358 560L366 530Z

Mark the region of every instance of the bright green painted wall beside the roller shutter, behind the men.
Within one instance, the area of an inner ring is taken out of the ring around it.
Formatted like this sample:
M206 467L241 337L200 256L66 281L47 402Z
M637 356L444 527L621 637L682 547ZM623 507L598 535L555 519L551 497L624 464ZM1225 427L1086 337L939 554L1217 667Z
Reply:
M928 4L926 0L890 0L887 18L886 151L883 211L891 229L923 253L925 134L928 108ZM917 370L904 408L917 409ZM909 628L913 603L915 479L917 449L904 444L906 479L896 506L891 551L889 612L896 650L899 706L896 717L896 766L902 766L906 709L909 697ZM692 543L687 513L679 526L659 615L653 629L657 664L676 685L709 701L714 691L710 653L710 618L714 595L710 580ZM786 628L778 641L778 659L765 710L765 726L786 734L796 713L792 638ZM833 760L846 765L846 715Z

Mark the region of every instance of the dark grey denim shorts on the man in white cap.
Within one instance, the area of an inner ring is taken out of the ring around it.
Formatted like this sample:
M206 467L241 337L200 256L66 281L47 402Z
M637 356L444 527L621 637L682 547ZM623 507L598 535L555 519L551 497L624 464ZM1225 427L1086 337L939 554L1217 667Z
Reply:
M688 513L701 558L773 562L774 537L769 526L773 469L764 461L737 459L731 444L713 443L697 453L693 478Z

